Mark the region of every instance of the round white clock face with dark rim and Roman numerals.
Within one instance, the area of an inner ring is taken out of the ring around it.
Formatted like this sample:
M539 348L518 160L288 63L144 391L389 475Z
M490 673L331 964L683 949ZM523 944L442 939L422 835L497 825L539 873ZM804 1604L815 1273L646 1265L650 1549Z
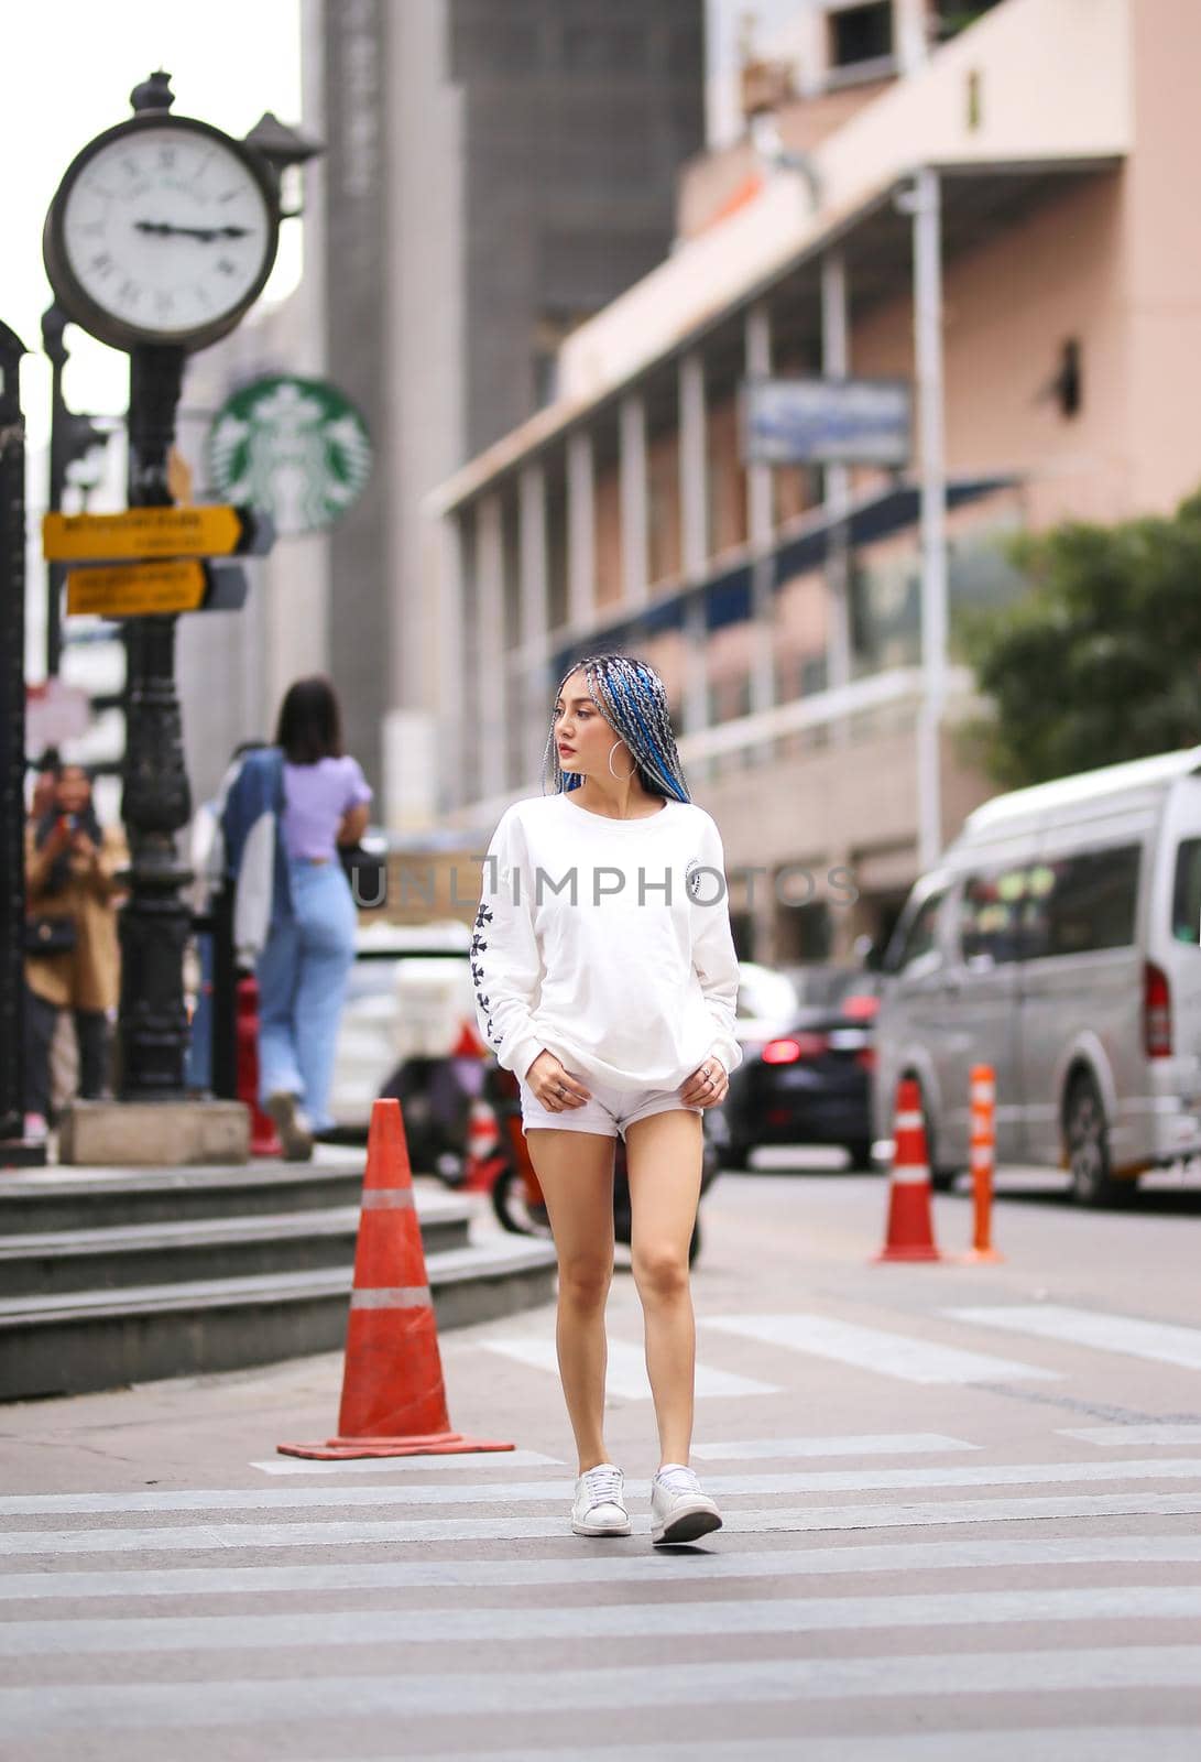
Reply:
M183 118L100 136L48 224L62 303L118 347L213 342L261 292L275 247L262 174L225 136Z

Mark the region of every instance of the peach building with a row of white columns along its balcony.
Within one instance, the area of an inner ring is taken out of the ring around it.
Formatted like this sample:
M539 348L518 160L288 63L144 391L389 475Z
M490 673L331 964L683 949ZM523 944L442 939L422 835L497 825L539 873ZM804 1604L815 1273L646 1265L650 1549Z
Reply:
M1201 9L819 0L798 30L747 70L759 150L687 169L682 245L428 504L447 816L490 830L537 791L572 659L643 654L766 960L886 929L991 793L954 636L1016 590L998 539L1201 478ZM745 467L764 374L912 381L910 467Z

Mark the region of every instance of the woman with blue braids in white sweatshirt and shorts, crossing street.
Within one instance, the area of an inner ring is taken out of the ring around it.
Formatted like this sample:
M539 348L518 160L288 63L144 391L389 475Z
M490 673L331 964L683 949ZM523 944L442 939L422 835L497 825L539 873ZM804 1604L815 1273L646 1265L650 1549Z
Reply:
M555 791L509 807L488 851L475 1010L519 1078L558 1255L558 1367L579 1452L572 1529L630 1533L604 1445L622 1135L660 1443L652 1538L690 1542L722 1522L689 1468L701 1112L722 1101L741 1059L722 840L689 796L667 694L641 661L593 655L562 680L544 768L551 759Z

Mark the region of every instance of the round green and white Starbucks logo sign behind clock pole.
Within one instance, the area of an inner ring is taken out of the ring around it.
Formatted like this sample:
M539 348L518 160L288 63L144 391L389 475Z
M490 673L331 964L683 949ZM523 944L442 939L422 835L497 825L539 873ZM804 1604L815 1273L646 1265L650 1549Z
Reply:
M356 407L326 379L255 379L222 407L208 439L225 500L259 507L280 536L321 532L363 493L372 439Z

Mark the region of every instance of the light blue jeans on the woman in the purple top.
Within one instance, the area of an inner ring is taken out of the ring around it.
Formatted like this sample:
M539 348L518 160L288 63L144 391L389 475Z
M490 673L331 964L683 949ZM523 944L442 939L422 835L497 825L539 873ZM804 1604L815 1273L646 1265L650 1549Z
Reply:
M324 1131L356 913L336 858L289 862L289 877L292 913L271 925L257 962L259 1099L299 1096L313 1131Z

